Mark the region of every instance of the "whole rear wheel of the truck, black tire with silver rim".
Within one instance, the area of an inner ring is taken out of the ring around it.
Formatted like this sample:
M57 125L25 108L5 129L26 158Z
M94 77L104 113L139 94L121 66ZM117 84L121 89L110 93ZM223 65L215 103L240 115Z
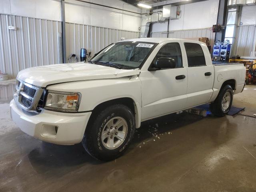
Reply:
M210 104L210 110L215 116L225 116L228 114L233 101L233 89L230 85L224 86L217 98Z

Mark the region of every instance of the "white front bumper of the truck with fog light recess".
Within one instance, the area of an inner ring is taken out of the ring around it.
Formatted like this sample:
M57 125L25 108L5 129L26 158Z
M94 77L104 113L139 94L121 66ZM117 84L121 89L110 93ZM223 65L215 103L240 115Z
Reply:
M42 110L40 114L22 110L10 102L12 120L26 134L45 142L72 145L82 141L92 112L62 113Z

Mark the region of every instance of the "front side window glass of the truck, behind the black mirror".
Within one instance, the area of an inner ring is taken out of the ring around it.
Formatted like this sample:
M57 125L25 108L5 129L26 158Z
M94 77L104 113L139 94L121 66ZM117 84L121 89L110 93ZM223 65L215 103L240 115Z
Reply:
M180 50L180 44L179 43L168 43L166 45L164 45L156 54L156 57L154 58L151 67L155 67L156 66L156 60L158 60L158 58L172 58L176 64L175 68L180 68L182 67L182 54L181 54L181 50Z

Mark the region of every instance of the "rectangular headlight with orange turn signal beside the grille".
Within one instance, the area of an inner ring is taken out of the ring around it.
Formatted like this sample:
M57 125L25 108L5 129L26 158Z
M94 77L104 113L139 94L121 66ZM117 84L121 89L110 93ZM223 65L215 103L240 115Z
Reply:
M45 109L77 112L80 104L81 94L70 92L48 91Z

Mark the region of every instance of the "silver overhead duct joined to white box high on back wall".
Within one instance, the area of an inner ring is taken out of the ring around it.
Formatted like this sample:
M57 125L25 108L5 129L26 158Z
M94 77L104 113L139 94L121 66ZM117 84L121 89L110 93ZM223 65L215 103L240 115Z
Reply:
M161 10L152 14L142 14L142 24L140 28L140 38L148 36L149 25L154 22L164 22L166 19L179 19L180 6L166 5Z

